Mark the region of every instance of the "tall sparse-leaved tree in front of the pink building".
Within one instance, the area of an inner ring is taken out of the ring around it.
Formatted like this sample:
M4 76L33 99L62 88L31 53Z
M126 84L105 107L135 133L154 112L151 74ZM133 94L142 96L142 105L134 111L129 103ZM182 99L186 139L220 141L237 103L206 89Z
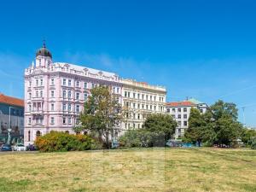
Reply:
M111 94L108 86L99 86L90 90L88 100L84 102L84 111L79 116L81 125L75 131L90 131L110 147L116 126L122 119L118 97Z

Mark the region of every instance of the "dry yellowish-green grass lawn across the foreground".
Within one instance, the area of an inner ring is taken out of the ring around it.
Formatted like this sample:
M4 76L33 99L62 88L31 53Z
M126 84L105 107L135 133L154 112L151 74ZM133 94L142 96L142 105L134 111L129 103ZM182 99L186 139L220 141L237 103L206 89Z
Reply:
M0 154L0 191L256 191L256 150Z

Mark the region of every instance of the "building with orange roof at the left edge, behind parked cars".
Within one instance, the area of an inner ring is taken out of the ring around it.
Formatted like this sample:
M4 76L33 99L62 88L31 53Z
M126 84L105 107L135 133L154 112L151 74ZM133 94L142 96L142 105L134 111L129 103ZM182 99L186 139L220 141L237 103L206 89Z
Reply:
M0 94L0 142L8 140L10 127L11 143L23 142L24 137L24 101Z

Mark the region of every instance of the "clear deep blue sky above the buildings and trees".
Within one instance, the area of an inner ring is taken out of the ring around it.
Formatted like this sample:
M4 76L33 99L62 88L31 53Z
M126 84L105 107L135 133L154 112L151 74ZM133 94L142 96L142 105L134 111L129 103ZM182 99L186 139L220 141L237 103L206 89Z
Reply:
M23 72L42 46L67 61L165 85L168 101L218 99L256 126L256 2L5 1L0 91L23 97Z

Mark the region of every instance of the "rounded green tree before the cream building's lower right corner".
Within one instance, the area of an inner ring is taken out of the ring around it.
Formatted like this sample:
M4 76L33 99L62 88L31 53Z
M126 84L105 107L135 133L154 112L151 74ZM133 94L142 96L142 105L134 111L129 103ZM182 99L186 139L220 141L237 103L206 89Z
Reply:
M165 140L168 140L172 137L176 127L177 122L172 119L172 116L162 113L154 113L148 115L148 118L143 124L143 129L145 131L163 133L163 135L165 135Z

